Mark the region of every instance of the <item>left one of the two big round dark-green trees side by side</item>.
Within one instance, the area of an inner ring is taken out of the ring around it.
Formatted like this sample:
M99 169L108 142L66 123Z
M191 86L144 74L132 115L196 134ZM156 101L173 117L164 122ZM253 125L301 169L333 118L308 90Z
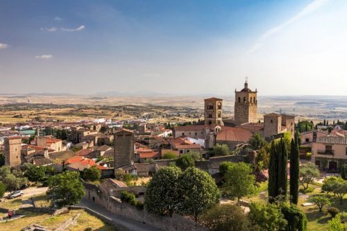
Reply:
M169 166L159 169L149 182L144 198L147 211L171 216L177 211L178 177L182 171L178 167Z

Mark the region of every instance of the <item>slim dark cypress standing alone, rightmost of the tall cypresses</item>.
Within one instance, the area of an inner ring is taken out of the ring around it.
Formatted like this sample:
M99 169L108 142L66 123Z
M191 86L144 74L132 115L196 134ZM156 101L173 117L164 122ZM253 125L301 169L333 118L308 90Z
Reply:
M291 139L290 153L290 202L298 204L299 193L299 149L298 149L298 133L295 133L294 139Z

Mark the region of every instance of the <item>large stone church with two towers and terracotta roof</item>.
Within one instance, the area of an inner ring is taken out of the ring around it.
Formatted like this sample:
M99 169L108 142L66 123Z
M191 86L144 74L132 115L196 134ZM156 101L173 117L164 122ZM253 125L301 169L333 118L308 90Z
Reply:
M272 139L284 132L294 134L294 115L270 113L258 120L257 89L248 88L248 80L240 91L235 89L234 117L223 121L223 99L205 99L203 125L174 127L174 138L187 136L205 139L205 148L215 144L228 144L230 150L237 144L248 142L253 133ZM227 126L228 125L228 126ZM192 132L193 131L193 132Z

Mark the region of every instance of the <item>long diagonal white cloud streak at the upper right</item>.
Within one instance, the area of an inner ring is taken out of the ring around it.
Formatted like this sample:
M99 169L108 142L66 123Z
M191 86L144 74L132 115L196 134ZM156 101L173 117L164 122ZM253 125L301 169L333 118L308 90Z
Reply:
M291 17L287 21L283 22L282 24L280 24L278 26L275 26L275 27L269 29L264 34L262 34L262 36L260 36L260 39L258 40L258 42L252 46L252 48L250 49L249 52L251 53L253 51L257 51L258 49L260 49L264 45L264 42L268 37L270 37L273 34L278 33L278 31L289 26L290 24L293 24L294 22L298 21L302 17L310 15L312 12L314 12L314 10L320 8L328 1L330 1L330 0L314 0L314 1L312 1L312 3L305 6L305 8L303 8L300 12L298 12L296 15L294 15L293 17Z

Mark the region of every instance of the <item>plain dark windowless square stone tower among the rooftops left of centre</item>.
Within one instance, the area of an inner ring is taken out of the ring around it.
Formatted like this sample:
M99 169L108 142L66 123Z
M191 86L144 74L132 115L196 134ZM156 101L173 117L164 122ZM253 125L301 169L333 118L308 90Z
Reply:
M116 130L113 139L115 148L115 169L134 161L134 132L128 129Z

